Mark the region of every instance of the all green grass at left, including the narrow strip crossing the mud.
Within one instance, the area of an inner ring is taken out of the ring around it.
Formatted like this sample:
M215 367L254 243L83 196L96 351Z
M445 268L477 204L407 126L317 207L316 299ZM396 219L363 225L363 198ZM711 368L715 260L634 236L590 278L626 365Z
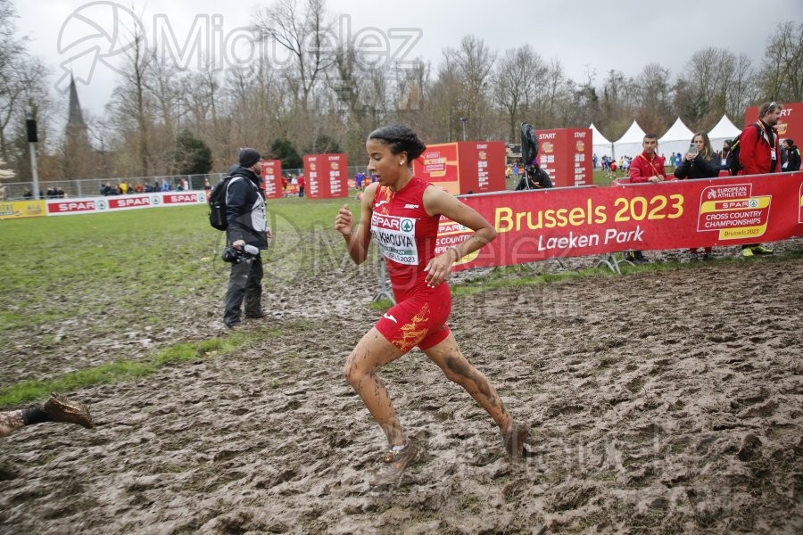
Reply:
M345 201L356 206L356 201ZM283 199L270 202L271 274L311 272L325 255L310 253L309 236L331 228L344 200ZM199 292L225 287L228 265L219 259L223 233L211 229L205 206L130 210L63 218L4 221L0 226L0 345L37 341L57 349L70 325L96 339L131 330L160 330L181 321L166 317L166 301L192 301ZM312 241L313 246L315 241ZM323 244L319 244L323 247ZM41 332L46 334L39 334ZM261 333L264 335L265 333ZM136 359L90 366L48 380L3 377L0 407L42 399L49 391L138 377L160 366L226 352L251 334L199 343L177 343Z

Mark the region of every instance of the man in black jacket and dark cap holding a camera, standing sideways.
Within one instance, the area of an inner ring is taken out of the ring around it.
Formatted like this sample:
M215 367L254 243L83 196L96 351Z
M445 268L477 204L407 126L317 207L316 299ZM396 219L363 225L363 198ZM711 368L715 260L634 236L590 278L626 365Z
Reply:
M268 240L273 237L265 211L265 193L260 188L261 160L259 152L243 149L240 151L239 165L229 169L232 178L226 189L226 240L237 251L243 251L246 244L264 251L268 249ZM245 317L264 317L261 300L260 255L248 255L243 261L233 262L228 277L223 323L229 329L240 326L243 301Z

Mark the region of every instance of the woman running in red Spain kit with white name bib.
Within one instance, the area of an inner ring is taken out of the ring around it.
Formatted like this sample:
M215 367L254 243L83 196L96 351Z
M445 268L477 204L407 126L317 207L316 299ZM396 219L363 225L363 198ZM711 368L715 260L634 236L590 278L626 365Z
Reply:
M390 449L383 478L398 481L415 459L418 447L407 439L393 410L393 402L377 371L418 346L441 368L446 378L458 383L499 425L509 456L525 454L526 425L513 418L483 374L460 352L446 319L451 311L451 292L446 279L451 265L490 243L496 230L475 210L421 178L413 177L411 161L426 146L410 128L390 125L368 136L368 172L377 182L368 185L355 227L351 210L340 209L335 230L344 236L355 263L368 256L373 237L385 256L396 305L366 333L346 360L344 374L371 416L385 432ZM467 241L435 255L441 216L474 231Z

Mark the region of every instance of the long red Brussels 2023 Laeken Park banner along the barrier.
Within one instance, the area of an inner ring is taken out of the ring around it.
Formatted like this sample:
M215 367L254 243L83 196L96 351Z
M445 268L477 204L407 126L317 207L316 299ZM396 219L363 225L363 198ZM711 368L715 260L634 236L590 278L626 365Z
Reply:
M498 235L460 259L455 270L803 236L801 172L491 193L460 200L491 222ZM472 234L442 218L435 252Z

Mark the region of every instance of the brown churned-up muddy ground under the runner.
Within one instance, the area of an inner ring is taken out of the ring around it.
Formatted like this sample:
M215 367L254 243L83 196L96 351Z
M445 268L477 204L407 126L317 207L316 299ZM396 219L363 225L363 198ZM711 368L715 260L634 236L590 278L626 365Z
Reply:
M456 299L452 330L533 426L534 457L503 457L490 418L413 351L382 374L423 446L394 491L368 484L384 439L341 374L381 314L372 269L274 280L248 328L280 333L235 355L73 392L94 431L0 440L0 533L803 531L803 259ZM0 352L3 383L219 336L222 284L158 329L43 326Z

